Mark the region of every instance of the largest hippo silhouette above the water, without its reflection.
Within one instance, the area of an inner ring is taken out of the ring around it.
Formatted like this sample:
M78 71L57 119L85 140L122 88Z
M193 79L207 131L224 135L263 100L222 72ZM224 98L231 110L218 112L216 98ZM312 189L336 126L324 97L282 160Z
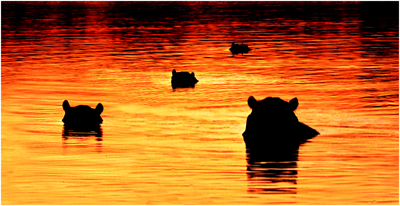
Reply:
M294 111L299 106L297 98L289 102L278 97L257 101L250 96L247 103L252 109L243 133L248 149L279 149L289 145L299 148L301 142L319 135L316 130L300 123L296 117Z

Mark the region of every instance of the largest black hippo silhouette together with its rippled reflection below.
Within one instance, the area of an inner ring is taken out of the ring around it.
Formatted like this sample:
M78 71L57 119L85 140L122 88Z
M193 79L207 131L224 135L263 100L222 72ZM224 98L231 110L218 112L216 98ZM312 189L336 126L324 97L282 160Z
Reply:
M247 100L252 109L243 139L247 151L247 177L251 193L296 194L300 145L319 133L300 123L294 110L297 98L286 102L277 97Z

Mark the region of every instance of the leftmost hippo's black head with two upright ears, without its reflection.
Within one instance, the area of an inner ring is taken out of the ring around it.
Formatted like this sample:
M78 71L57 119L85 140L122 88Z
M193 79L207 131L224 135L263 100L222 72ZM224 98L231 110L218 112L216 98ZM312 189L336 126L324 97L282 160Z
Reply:
M71 107L68 101L65 100L63 102L63 109L65 111L63 122L68 126L99 126L103 122L103 119L100 117L104 109L101 103L96 106L96 109L93 109L88 105Z

